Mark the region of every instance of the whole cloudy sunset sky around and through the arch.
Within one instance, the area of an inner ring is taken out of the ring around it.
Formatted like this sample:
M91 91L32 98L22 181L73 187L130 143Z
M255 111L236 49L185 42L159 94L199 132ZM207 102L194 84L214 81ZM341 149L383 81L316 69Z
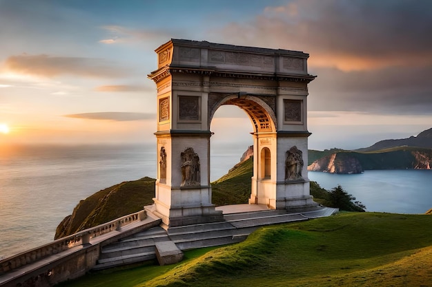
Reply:
M310 149L406 138L432 127L431 34L426 0L0 0L0 144L155 142L170 39L310 54ZM249 139L234 108L215 140Z

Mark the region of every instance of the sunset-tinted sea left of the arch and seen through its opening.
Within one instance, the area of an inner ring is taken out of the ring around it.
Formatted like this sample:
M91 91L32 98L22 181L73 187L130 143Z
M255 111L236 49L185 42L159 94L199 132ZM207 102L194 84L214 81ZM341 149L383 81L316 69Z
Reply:
M215 151L212 180L244 150ZM0 258L52 241L79 200L144 176L156 177L154 145L0 147Z

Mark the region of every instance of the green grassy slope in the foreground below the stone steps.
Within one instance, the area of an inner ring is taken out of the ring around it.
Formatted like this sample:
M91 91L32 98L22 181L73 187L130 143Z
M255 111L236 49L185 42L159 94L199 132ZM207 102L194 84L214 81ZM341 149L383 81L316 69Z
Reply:
M259 228L245 242L189 253L173 266L106 271L61 286L430 286L431 255L429 215L340 213Z

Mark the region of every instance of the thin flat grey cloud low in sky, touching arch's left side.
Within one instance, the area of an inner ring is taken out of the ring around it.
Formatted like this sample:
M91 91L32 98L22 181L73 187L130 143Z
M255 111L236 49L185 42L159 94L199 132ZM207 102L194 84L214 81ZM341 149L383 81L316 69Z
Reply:
M130 120L154 120L155 114L146 113L132 113L121 111L106 111L97 113L84 113L84 114L69 114L67 118L84 118L89 120L115 120L117 122L124 122Z

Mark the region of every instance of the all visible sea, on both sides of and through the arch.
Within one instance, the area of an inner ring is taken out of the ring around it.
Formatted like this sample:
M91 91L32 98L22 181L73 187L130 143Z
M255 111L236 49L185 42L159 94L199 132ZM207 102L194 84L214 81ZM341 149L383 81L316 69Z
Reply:
M211 151L211 178L239 162L245 147ZM155 145L21 146L0 150L0 258L51 242L79 200L127 180L156 177ZM325 189L341 184L367 211L424 213L432 208L432 171L310 172Z

